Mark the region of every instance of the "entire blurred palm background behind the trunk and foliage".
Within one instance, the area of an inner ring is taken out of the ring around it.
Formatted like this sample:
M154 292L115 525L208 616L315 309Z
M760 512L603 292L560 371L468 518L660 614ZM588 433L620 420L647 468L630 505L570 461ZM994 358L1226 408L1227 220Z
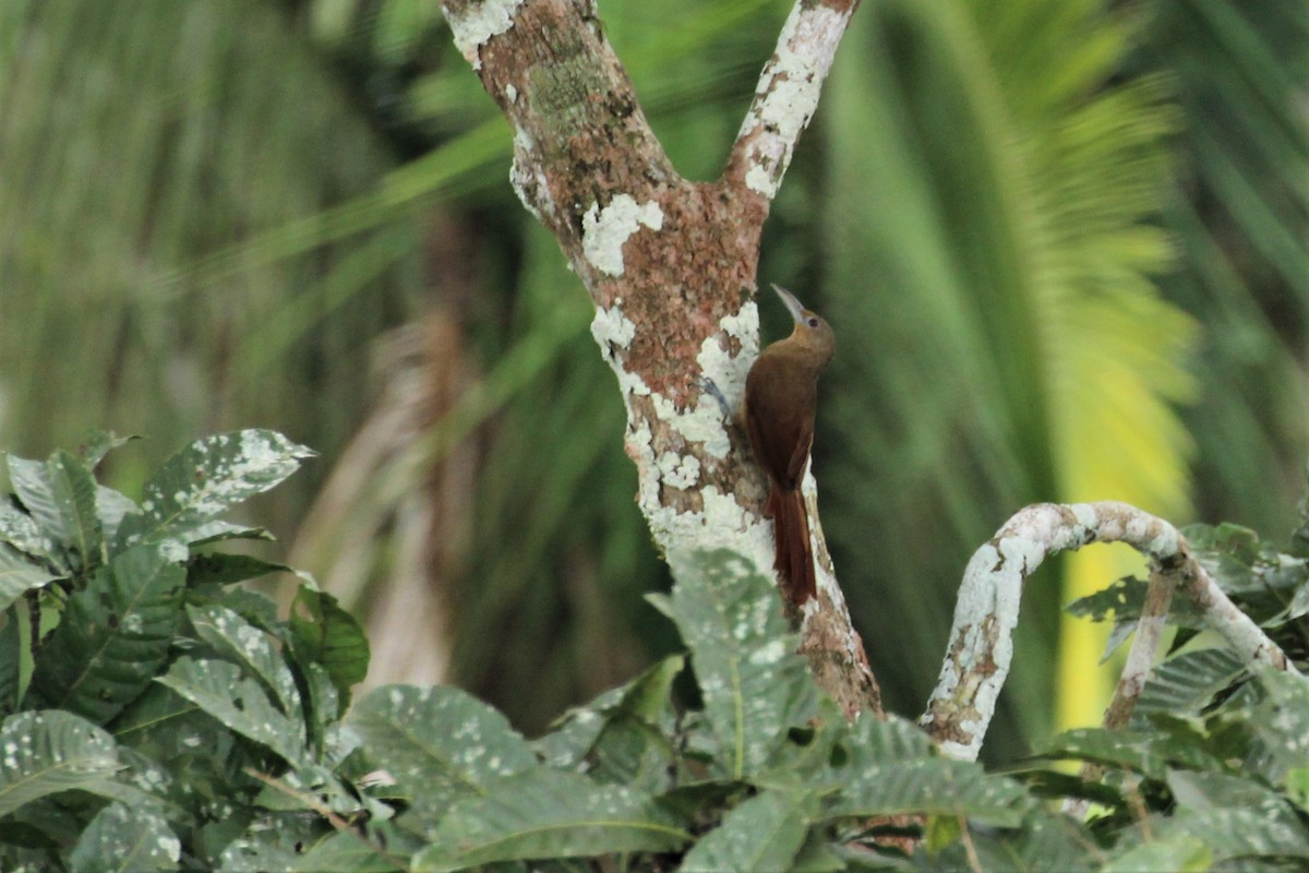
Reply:
M600 3L685 175L717 174L787 8ZM1306 81L1299 0L856 13L761 276L838 332L816 471L891 709L922 709L969 554L1026 503L1283 533ZM589 304L436 3L9 0L0 119L0 446L143 435L128 491L213 431L314 446L253 514L367 618L374 681L528 730L673 644ZM1058 607L1111 569L1033 586L992 754L1096 696Z

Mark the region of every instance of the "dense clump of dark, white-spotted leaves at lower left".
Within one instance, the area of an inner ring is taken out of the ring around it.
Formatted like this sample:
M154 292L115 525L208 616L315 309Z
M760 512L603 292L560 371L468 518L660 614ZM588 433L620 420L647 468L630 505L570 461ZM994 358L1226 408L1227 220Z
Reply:
M211 546L223 516L312 453L267 431L187 446L140 503L98 486L123 440L9 455L0 512L0 868L209 869L267 783L344 802L329 732L367 664L330 597L300 613L232 581L284 569ZM35 639L34 639L35 635ZM297 788L298 789L298 788Z

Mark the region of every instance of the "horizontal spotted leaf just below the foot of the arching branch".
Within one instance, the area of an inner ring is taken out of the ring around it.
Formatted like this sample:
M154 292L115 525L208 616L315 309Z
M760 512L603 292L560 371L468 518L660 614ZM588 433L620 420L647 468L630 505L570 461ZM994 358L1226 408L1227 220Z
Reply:
M1035 805L1018 783L987 775L971 762L928 758L834 771L840 792L825 818L897 814L953 815L999 827L1017 827Z

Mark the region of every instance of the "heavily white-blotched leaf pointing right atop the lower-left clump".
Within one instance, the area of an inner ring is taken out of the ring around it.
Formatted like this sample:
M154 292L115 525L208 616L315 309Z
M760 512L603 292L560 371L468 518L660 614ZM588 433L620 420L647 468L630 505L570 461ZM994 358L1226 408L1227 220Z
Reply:
M204 529L232 507L272 488L313 452L274 431L220 433L169 458L145 483L141 516L124 520L128 542L209 539Z

